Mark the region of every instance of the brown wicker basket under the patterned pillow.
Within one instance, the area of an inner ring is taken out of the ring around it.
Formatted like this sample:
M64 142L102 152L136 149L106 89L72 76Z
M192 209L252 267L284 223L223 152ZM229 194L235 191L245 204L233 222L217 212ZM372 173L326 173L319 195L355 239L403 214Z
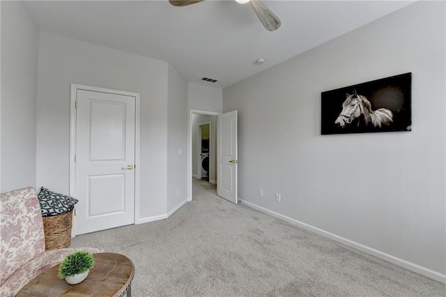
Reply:
M71 245L72 211L43 218L45 250L68 248Z

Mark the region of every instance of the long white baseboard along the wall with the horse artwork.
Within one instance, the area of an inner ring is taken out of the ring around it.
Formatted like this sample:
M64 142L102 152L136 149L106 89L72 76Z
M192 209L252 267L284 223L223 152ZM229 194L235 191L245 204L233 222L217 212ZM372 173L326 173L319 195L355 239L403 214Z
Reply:
M321 236L330 238L334 241L337 241L338 243L343 243L344 245L348 245L351 248L355 248L356 250L360 250L361 252L366 252L367 254L371 254L374 257L377 257L379 259L382 259L384 261L390 262L392 264L395 264L397 266L400 266L402 268L406 268L409 271L413 271L415 273L418 273L420 275L424 275L425 277L429 277L432 280L436 280L438 282L442 282L443 284L446 284L446 275L443 273L438 273L437 271L433 271L429 268L420 266L418 264L406 261L404 259L400 259L398 257L394 257L391 254L386 254L385 252L381 252L379 250L375 250L374 248L370 248L367 245L362 245L360 243L356 243L355 241L351 241L347 238L337 236L336 234L332 234L328 231L325 231L323 229L319 229L317 227L314 227L310 224L305 224L304 222L300 222L298 220L294 220L292 218L286 217L285 215L281 215L280 213L276 213L275 211L270 211L267 208L263 208L261 206L257 206L256 204L252 204L251 202L241 200L240 201L243 204L246 204L249 207L252 207L258 211L261 211L263 213L268 213L268 215L272 215L275 218L279 218L281 220L284 220L286 222L290 222L291 224L295 224L298 227L301 227L303 229L306 229L308 231L312 231L316 234L319 234Z

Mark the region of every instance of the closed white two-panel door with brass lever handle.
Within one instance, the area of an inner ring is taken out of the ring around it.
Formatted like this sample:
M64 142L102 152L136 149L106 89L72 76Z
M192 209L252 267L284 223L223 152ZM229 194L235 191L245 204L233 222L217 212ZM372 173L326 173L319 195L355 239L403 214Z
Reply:
M77 90L76 234L134 223L135 98Z

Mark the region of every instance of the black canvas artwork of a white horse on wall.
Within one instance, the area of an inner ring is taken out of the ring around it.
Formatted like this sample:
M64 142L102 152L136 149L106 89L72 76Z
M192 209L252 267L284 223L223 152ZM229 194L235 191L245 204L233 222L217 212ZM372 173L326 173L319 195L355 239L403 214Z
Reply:
M410 131L412 73L321 94L321 133Z

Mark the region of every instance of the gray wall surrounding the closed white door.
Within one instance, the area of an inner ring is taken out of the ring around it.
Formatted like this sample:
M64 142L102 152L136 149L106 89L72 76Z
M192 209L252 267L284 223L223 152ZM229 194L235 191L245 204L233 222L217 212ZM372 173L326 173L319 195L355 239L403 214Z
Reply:
M168 63L44 32L38 50L37 184L69 192L70 84L139 93L137 222L164 218Z

